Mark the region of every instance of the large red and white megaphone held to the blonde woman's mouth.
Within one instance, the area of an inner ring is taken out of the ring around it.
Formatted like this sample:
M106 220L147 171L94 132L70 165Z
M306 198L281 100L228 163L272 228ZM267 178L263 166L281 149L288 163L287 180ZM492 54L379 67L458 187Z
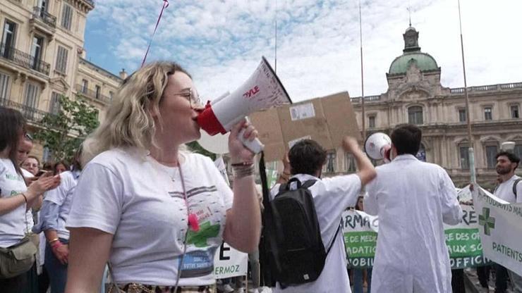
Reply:
M249 113L291 103L286 89L267 59L262 57L260 65L243 85L231 94L207 103L198 116L198 124L209 135L224 135ZM243 139L243 131L239 134L241 142L255 154L262 151L264 146L259 139L253 142Z

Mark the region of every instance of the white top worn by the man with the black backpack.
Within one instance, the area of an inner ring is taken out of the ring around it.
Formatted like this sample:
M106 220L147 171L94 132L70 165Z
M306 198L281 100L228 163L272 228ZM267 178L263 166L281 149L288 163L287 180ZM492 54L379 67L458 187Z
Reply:
M321 229L322 243L324 249L328 249L334 239L334 234L341 223L341 214L350 206L355 206L360 192L361 184L358 175L343 175L319 179L312 175L297 174L296 177L302 183L306 180L316 180L314 185L308 189L314 198L315 212L319 227ZM279 193L279 184L275 185L270 192L272 199ZM291 185L295 189L295 184ZM315 282L309 282L298 286L290 286L285 289L277 286L274 292L284 293L329 293L329 292L351 292L350 280L346 271L346 251L344 249L344 237L342 229L327 255L321 275Z

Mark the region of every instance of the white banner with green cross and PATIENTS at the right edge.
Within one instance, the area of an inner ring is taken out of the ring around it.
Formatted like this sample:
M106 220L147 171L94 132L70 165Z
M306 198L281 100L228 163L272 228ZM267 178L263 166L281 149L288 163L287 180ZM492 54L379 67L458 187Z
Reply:
M485 256L522 275L522 204L509 204L478 187L473 205Z

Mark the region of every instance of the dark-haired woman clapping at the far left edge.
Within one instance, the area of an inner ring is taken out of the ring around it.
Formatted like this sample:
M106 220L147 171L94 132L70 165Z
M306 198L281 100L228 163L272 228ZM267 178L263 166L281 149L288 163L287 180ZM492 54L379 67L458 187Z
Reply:
M0 261L8 261L11 254L5 249L13 249L21 245L27 246L25 232L26 212L37 200L37 197L60 183L59 177L40 177L29 187L25 185L22 171L17 163L18 144L25 135L25 119L22 114L11 108L0 106ZM36 247L34 247L36 252ZM28 264L32 265L34 258ZM2 268L4 264L1 263ZM20 268L16 274L1 270L0 288L2 292L25 292L28 289L27 269Z

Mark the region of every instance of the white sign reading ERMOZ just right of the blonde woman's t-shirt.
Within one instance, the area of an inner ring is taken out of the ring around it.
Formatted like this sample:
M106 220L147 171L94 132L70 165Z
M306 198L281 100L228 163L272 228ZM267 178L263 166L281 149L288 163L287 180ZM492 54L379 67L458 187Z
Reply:
M214 255L214 273L216 279L246 275L248 254L237 251L223 242Z

